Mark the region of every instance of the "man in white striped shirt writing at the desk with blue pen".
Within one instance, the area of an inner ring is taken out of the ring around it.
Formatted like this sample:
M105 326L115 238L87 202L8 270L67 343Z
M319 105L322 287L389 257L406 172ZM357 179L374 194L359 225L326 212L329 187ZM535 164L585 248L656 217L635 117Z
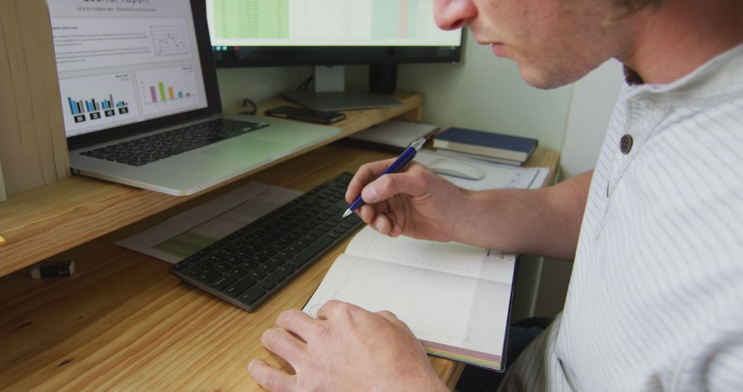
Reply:
M360 193L361 218L386 235L575 259L565 310L506 390L742 391L743 1L437 0L435 19L469 25L539 88L623 62L596 169L470 192L418 164L377 179L383 161L359 169L346 200ZM263 344L296 370L250 362L269 390L445 389L387 312L290 310Z

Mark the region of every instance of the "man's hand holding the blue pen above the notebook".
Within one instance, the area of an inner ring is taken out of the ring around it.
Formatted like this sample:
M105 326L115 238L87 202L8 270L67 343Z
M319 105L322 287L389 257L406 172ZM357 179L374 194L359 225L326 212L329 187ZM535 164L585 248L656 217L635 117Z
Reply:
M460 241L457 227L472 192L415 162L401 173L379 177L393 161L361 166L348 184L345 200L352 203L361 194L366 204L356 212L384 235Z

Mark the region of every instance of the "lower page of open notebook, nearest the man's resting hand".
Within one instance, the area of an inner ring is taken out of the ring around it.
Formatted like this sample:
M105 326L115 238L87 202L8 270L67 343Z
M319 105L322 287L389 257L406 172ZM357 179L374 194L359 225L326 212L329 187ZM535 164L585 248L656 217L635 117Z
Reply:
M372 312L389 310L421 341L500 356L510 286L344 254L304 311L317 316L331 299Z

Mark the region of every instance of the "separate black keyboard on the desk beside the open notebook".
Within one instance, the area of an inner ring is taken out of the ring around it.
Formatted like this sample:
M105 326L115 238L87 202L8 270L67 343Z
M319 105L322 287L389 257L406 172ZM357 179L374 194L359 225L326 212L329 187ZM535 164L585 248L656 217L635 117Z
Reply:
M255 310L363 221L342 218L345 172L170 267L178 278Z

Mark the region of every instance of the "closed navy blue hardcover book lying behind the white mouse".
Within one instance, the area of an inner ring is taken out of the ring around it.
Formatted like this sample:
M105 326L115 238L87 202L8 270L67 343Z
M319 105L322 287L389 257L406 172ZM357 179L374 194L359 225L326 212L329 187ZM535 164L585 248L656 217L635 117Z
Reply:
M524 163L539 141L528 137L495 134L464 128L449 128L433 139L435 148Z

